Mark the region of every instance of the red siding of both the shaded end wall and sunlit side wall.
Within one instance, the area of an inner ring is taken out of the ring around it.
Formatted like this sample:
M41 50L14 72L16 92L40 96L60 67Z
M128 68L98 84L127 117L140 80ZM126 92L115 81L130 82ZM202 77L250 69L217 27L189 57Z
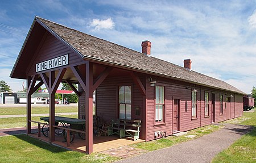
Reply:
M156 85L165 87L165 107L164 123L155 123L155 87L150 86L148 77L139 76L143 85L146 85L146 99L143 99L142 93L134 83L133 78L128 74L117 76L117 72L110 73L109 77L97 88L97 109L96 115L102 117L106 122L118 118L118 86L132 86L132 119L142 120L140 138L146 141L158 139L162 136L155 136L155 132L166 132L167 136L173 134L173 102L179 99L179 131L188 131L189 129L206 126L212 123L213 102L212 95L215 97L215 122L221 122L229 118L242 115L242 95L234 94L229 106L226 106L227 93L225 91L210 89L204 86L196 86L197 90L197 118L192 118L192 93L193 86L186 82L177 82L175 80L166 80L165 78L153 77L157 81ZM189 86L189 89L186 87ZM209 116L205 116L205 92L209 93ZM220 95L224 95L223 114L220 114ZM236 103L234 102L236 100ZM84 116L82 107L84 103L84 94L80 98L80 114ZM225 107L226 106L226 107ZM135 114L135 108L141 108L141 115ZM233 116L232 116L233 114ZM80 115L80 118L82 116Z

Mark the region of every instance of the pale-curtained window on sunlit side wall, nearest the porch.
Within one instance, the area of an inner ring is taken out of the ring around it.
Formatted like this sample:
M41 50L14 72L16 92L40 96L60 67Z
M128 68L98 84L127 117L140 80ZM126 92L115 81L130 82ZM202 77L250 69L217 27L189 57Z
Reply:
M155 86L155 122L163 122L164 86Z

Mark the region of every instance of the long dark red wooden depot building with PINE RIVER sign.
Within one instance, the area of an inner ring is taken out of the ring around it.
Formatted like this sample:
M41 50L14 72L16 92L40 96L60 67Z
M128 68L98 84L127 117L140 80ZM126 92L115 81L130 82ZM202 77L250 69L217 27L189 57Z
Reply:
M81 144L86 153L99 145L94 143L93 116L109 124L113 119L141 120L143 141L242 116L243 91L193 71L189 59L181 67L155 58L150 41L141 46L137 52L35 17L10 74L27 80L27 133L29 97L44 84L50 98L48 141L56 142L54 95L60 82L79 85L72 89L79 96L77 118L85 119Z

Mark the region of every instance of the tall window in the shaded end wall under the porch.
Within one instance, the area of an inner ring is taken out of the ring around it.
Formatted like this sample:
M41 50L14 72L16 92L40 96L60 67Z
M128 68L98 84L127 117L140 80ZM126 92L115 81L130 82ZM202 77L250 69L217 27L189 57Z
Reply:
M131 86L119 86L119 118L131 119Z

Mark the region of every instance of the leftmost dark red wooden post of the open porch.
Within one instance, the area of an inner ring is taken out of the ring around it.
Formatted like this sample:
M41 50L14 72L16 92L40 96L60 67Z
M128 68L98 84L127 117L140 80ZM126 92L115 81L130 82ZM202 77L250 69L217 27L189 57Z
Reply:
M27 77L27 88L30 87L31 77ZM31 133L31 94L27 90L27 133Z

